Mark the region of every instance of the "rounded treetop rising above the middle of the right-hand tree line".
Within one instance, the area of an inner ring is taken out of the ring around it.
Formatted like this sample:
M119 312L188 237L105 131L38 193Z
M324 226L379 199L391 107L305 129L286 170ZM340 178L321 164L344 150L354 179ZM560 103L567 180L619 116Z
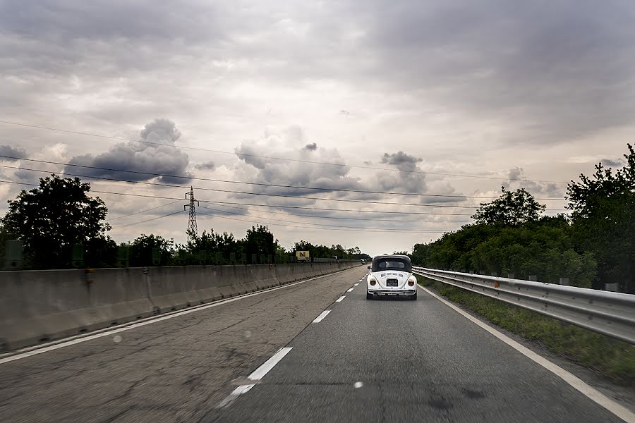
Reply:
M501 187L502 194L496 200L481 203L472 219L476 223L502 224L504 226L522 226L537 221L545 206L539 204L524 188L507 191Z

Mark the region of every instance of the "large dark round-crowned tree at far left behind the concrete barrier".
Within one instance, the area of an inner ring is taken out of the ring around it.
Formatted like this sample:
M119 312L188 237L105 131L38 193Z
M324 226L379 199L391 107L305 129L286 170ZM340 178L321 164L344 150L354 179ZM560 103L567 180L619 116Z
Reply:
M8 235L22 240L25 261L37 269L68 266L74 244L88 249L85 262L95 266L99 252L109 251L108 209L99 197L89 197L89 183L52 175L39 188L23 190L9 200L4 216Z

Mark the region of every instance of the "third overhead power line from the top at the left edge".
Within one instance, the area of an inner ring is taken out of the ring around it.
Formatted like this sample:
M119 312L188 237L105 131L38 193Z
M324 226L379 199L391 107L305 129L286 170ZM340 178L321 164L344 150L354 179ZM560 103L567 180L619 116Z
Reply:
M1 157L1 156L0 156ZM89 178L89 179L97 179L97 180L111 180L115 182L125 182L125 183L135 183L142 185L152 185L152 186L160 186L165 188L179 188L182 189L182 185L174 185L169 183L158 183L158 182L146 182L143 180L127 180L121 178L107 178L105 176L92 176L92 175L82 175L79 173L71 173L71 172L56 172L56 171L47 171L42 169L34 169L34 168L24 168L19 166L8 166L8 165L0 165L0 167L4 168L13 168L19 169L20 171L31 171L31 172L40 172L40 173L57 173L60 175L66 176L77 176L80 178ZM298 200L322 200L322 201L330 201L330 202L356 202L356 203L365 203L365 204L390 204L390 205L398 205L398 206L412 206L412 207L440 207L440 208L450 208L450 209L474 209L479 207L480 204L469 204L464 206L452 206L449 204L418 204L418 203L402 203L402 202L383 202L383 201L372 201L372 200L344 200L341 198L324 198L324 197L303 197L298 195L286 195L286 194L270 194L267 192L249 192L249 191L236 191L236 190L218 190L216 188L204 188L204 187L194 187L196 190L203 191L213 191L213 192L225 192L229 194L243 194L243 195L258 195L265 197L283 197L283 198L296 198ZM562 211L563 209L548 209L551 211Z

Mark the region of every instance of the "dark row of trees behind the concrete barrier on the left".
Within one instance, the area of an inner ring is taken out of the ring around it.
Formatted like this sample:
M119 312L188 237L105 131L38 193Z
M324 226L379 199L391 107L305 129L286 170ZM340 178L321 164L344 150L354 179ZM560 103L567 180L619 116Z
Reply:
M252 226L241 239L210 228L187 233L183 244L154 233L118 244L108 235L106 205L89 194L90 183L55 174L41 178L39 187L21 191L8 201L8 211L0 219L0 257L8 262L15 256L11 250L16 250L16 243L11 240L19 240L21 269L284 263L295 260L296 250L318 259L370 258L359 247L327 247L305 240L286 250L261 225ZM11 266L5 264L7 268Z

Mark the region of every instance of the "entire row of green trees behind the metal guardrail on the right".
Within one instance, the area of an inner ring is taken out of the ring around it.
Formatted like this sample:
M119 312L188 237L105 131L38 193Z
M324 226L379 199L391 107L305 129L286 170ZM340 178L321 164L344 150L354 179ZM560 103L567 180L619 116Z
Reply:
M586 288L617 283L635 293L635 152L627 147L622 168L600 163L591 176L571 180L569 216L544 216L529 192L502 188L499 198L480 204L475 223L414 245L413 262Z

